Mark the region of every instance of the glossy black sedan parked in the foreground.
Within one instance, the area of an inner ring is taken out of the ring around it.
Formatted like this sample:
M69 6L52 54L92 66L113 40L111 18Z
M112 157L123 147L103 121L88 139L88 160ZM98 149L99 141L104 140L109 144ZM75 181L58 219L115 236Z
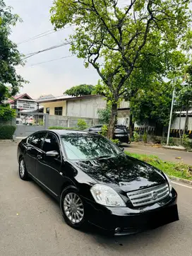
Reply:
M91 223L124 235L179 219L169 178L100 134L36 132L18 145L18 163L20 178L52 194L73 228Z

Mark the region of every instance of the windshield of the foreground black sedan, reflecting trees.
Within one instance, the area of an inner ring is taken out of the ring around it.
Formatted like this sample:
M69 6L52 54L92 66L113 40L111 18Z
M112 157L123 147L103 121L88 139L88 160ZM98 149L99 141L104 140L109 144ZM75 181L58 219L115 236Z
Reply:
M61 141L70 160L109 158L122 154L121 149L100 135L67 134L61 136Z

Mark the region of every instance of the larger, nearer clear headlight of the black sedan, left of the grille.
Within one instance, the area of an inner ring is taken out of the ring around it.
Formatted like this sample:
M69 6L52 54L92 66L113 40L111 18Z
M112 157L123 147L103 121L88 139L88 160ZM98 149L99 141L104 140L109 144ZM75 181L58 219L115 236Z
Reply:
M90 192L95 199L95 202L98 204L104 206L126 206L124 200L112 189L112 187L96 184L91 187Z

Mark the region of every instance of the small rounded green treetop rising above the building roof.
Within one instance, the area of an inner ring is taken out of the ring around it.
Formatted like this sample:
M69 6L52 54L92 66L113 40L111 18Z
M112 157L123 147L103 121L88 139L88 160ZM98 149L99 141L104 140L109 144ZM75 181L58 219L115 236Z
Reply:
M64 94L78 97L83 95L91 95L94 90L95 86L90 84L80 84L79 86L73 86L66 90Z

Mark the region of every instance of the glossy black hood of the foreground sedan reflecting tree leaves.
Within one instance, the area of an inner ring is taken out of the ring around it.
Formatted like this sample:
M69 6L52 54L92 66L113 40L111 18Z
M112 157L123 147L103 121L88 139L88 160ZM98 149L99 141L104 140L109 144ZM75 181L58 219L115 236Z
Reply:
M73 161L73 164L97 183L107 184L124 192L166 182L160 170L126 154L112 158Z

